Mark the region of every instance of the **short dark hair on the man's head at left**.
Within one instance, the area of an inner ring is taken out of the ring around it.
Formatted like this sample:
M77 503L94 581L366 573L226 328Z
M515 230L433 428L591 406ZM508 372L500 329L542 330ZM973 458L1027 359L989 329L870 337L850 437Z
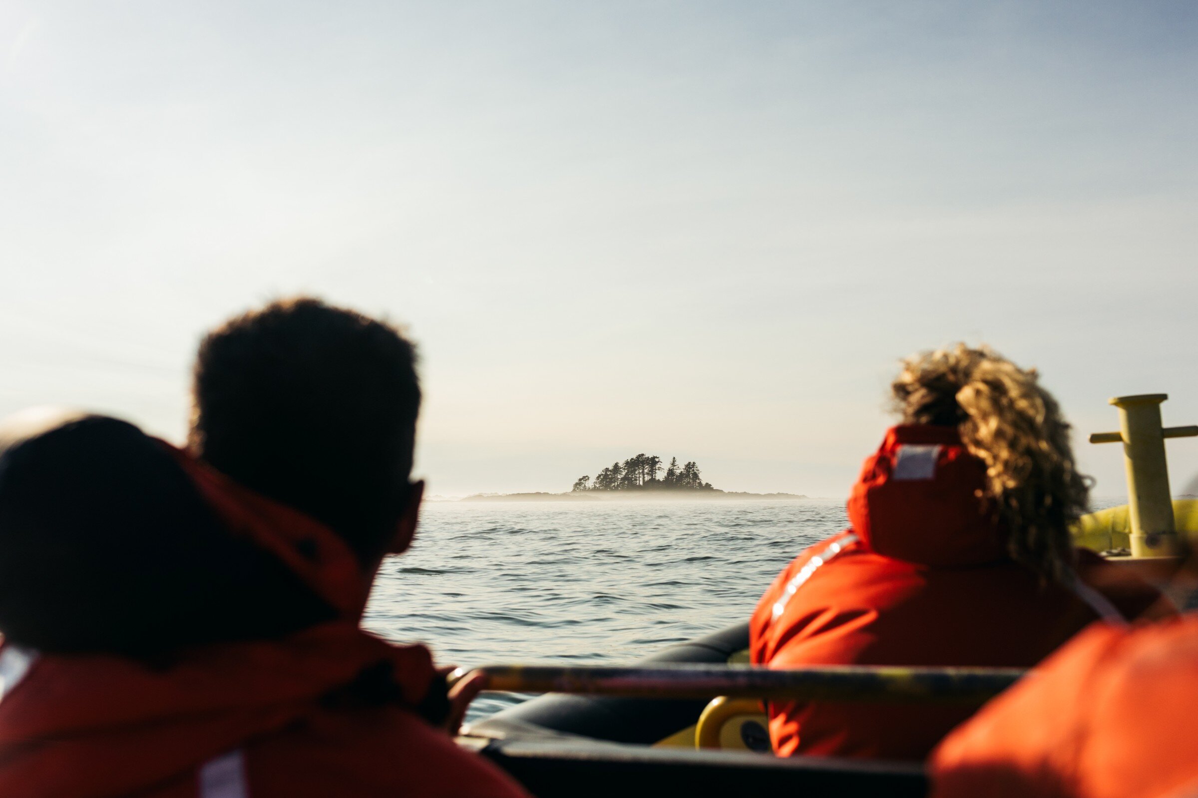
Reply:
M379 556L404 510L420 389L394 327L300 298L200 343L190 451Z

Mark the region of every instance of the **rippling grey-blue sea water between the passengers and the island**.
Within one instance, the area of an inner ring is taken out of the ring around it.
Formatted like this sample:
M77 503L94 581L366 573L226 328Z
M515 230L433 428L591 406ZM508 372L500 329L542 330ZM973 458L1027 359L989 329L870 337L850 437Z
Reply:
M842 500L444 502L383 565L367 626L442 663L629 663L746 620ZM515 701L483 696L472 719Z

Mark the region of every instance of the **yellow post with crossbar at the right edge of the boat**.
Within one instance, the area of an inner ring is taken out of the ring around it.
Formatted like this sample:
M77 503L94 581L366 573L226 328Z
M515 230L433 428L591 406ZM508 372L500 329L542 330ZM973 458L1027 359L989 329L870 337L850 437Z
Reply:
M1127 469L1127 508L1132 556L1173 556L1181 550L1173 523L1166 438L1198 435L1198 427L1161 426L1161 402L1168 394L1117 396L1119 432L1096 432L1091 444L1123 443Z

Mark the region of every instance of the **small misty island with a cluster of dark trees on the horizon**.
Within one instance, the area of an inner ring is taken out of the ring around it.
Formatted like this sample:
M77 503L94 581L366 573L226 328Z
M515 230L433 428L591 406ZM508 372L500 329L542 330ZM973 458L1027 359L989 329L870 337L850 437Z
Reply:
M794 493L743 493L712 487L702 480L698 465L690 461L678 464L672 457L661 465L657 455L636 455L623 463L615 462L591 475L580 476L569 493L476 493L461 501L618 501L618 500L783 500L806 499Z

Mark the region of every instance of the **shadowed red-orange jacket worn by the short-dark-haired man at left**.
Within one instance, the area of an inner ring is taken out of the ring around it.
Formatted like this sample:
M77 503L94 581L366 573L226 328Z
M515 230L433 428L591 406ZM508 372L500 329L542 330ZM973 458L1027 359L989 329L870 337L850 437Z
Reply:
M340 617L167 664L4 645L0 796L525 794L420 717L444 698L431 656L358 628L369 583L334 532L174 456L231 534L274 553Z

